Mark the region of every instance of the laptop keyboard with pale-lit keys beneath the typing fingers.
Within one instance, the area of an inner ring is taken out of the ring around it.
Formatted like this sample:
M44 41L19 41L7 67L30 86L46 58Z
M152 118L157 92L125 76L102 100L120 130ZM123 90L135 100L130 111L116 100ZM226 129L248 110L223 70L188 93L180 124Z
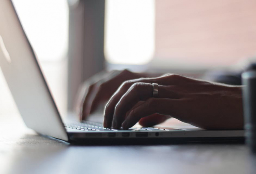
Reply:
M83 122L69 122L67 124L64 124L66 128L76 129L76 130L82 130L82 131L119 131L124 129L109 129L103 127L100 123L95 123L91 121L83 121ZM131 127L128 129L129 131L175 131L175 130L182 130L182 129L161 129L161 128L155 128L155 127ZM126 130L127 131L127 130Z

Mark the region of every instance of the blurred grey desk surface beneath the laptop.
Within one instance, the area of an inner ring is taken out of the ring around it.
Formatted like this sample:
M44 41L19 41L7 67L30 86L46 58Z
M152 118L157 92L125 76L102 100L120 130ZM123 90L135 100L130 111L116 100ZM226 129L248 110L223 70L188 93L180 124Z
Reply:
M0 132L1 174L256 173L244 144L73 146L7 115L0 117Z

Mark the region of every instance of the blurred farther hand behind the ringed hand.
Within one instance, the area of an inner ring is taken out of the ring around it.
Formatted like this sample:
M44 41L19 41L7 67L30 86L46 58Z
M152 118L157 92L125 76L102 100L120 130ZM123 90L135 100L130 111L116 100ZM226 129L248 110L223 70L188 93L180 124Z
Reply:
M101 103L107 102L124 81L139 77L138 73L128 70L114 70L111 72L100 72L85 81L80 89L76 104L80 120L86 119Z

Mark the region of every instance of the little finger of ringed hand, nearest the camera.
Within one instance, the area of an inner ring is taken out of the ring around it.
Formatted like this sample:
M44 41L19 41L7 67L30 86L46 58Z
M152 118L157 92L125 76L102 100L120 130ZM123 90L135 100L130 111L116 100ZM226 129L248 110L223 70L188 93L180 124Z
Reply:
M150 98L137 108L131 110L124 120L122 127L128 129L135 125L141 118L154 113L180 117L180 106L182 106L180 99Z

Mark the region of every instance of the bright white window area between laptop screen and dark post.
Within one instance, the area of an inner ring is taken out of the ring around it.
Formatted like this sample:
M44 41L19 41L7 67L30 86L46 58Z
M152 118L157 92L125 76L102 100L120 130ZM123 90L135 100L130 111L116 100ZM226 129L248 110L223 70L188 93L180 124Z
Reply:
M56 61L68 50L68 3L65 0L13 0L40 61Z

